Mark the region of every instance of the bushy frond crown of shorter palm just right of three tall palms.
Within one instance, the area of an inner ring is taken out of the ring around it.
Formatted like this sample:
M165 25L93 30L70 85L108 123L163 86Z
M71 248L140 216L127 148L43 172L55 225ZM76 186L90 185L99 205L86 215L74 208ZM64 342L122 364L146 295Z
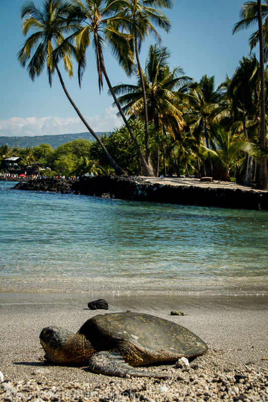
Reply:
M150 46L145 70L142 73L146 91L148 121L154 124L155 135L163 138L166 132L175 137L182 131L186 90L191 78L181 67L169 69L170 53L166 47ZM143 117L143 91L139 74L137 85L119 84L114 87L122 109L129 116ZM156 169L157 170L157 169Z

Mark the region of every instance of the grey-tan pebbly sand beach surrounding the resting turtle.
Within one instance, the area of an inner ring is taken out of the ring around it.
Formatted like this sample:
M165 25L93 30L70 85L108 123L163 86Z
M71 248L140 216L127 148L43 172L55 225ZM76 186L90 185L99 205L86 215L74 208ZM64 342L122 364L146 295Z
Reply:
M109 312L131 310L162 317L207 343L208 353L189 367L147 368L165 372L166 380L109 377L87 367L44 361L42 328L58 325L76 332L88 318L107 313L87 309L94 296L104 294L0 293L0 370L7 381L1 384L0 400L268 400L267 295L108 291ZM171 310L185 316L170 316Z

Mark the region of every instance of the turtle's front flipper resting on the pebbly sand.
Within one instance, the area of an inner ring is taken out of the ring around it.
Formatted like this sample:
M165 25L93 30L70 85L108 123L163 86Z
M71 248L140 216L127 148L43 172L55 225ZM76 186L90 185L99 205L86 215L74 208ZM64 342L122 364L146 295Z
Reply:
M115 375L117 377L125 377L127 374L133 377L167 377L153 371L145 371L132 367L125 362L120 353L109 350L93 355L90 358L89 367L95 373Z

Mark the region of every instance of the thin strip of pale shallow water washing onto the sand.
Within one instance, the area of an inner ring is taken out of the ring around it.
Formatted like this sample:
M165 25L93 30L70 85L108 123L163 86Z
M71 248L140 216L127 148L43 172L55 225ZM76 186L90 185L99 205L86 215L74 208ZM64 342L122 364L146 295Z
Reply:
M0 292L2 293L42 293L42 294L163 294L163 295L268 295L268 280L258 276L217 279L196 278L182 280L180 278L139 278L121 276L113 277L60 277L47 279L45 276L2 276L0 277Z

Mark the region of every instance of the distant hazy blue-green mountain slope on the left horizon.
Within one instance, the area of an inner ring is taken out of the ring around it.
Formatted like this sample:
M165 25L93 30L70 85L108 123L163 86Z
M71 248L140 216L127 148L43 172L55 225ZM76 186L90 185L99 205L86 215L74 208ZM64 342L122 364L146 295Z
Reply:
M101 136L103 133L96 133ZM73 140L89 140L93 141L94 137L91 133L78 133L78 134L57 134L57 135L36 135L33 137L4 137L0 136L0 146L3 144L8 145L9 148L32 148L40 144L50 144L52 148L57 148L59 145Z

